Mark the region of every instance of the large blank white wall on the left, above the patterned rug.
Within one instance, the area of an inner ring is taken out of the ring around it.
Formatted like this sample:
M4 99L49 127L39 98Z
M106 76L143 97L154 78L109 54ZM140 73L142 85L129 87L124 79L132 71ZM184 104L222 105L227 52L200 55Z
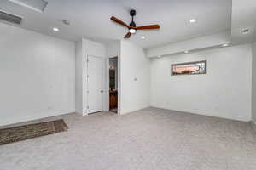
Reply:
M75 46L0 23L0 126L75 110Z

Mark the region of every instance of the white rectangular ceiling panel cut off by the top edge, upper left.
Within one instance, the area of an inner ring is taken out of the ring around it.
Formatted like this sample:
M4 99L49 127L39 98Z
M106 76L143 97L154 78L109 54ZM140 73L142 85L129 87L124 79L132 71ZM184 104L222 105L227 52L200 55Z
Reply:
M48 2L44 0L9 0L12 3L16 3L26 8L31 8L32 10L38 11L40 13L44 12Z

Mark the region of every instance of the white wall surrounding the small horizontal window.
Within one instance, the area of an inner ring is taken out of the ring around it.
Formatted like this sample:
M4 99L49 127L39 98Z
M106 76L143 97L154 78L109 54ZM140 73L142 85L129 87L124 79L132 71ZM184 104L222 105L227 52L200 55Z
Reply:
M171 76L172 64L205 59L206 75ZM251 62L251 44L152 59L151 105L250 121Z

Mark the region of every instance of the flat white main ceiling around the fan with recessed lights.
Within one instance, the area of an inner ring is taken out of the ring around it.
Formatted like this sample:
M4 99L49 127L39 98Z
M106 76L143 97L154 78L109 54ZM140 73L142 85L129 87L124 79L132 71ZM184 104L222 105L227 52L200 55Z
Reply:
M137 10L137 26L160 24L160 31L137 31L130 41L143 48L183 41L230 29L231 0L47 0L44 13L21 7L8 0L0 9L24 18L21 27L76 41L81 37L109 42L122 39L127 30L109 18L131 21L129 10ZM196 23L189 20L195 18ZM69 20L70 26L61 20ZM52 31L58 27L59 32ZM145 36L146 39L141 39Z

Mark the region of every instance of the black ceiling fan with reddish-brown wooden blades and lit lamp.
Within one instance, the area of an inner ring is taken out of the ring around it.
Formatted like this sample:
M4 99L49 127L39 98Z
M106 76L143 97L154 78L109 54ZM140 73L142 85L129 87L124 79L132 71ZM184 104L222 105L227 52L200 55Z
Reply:
M125 38L131 37L131 34L135 34L137 30L151 30L151 29L160 29L159 25L148 25L148 26L136 26L136 23L133 21L133 17L136 15L136 10L130 11L131 15L131 22L130 25L125 24L122 20L117 19L116 17L112 16L110 20L118 23L119 25L125 26L128 28L128 33L125 35Z

